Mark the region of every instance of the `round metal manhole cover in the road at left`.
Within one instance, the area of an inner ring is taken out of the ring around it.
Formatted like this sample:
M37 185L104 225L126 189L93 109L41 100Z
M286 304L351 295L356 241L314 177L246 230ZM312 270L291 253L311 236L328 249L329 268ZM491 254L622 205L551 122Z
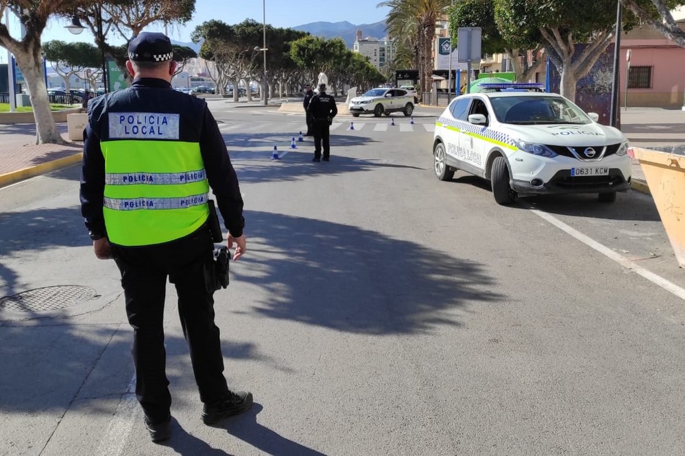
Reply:
M41 312L64 309L93 299L97 294L93 288L77 285L58 285L36 288L5 296L0 299L0 309L19 312Z

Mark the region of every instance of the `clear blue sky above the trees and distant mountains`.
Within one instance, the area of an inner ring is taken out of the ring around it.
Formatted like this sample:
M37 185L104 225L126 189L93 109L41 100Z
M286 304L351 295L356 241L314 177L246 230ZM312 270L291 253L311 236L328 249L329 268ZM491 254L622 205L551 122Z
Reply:
M380 1L265 0L266 22L274 25L274 27L284 28L319 21L348 21L354 25L371 24L383 21L389 12L387 7L376 7ZM189 42L195 27L211 19L224 21L228 24L237 24L250 18L262 23L262 5L262 1L259 0L196 0L193 19L182 27L178 25L169 26L168 33L172 40ZM50 40L93 42L93 36L88 31L75 36L64 29L64 25L67 25L67 21L50 21L43 32L42 40L44 42ZM17 30L16 34L14 33L15 29ZM19 25L12 27L12 35L18 35L18 30ZM164 31L164 29L159 31ZM112 44L123 43L121 38L118 40L110 39L109 41Z

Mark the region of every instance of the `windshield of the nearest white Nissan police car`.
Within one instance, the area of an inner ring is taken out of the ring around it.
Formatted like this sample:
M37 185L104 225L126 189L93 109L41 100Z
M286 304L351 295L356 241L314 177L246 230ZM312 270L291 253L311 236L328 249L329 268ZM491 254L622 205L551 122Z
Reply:
M518 125L592 123L579 107L560 97L490 97L498 121Z

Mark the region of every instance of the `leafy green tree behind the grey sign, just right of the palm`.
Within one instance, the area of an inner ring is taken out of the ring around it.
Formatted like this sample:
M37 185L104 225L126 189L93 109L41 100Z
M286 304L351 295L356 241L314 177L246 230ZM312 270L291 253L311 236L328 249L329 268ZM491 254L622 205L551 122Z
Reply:
M481 49L483 53L505 53L514 64L514 73L518 81L527 81L542 66L543 60L537 60L531 66L521 65L518 57L528 49L533 50L533 55L540 51L540 37L533 36L533 39L519 40L517 46L513 46L502 37L497 24L495 23L495 5L493 0L461 0L455 3L453 8L448 10L450 24L450 37L453 45L457 45L457 36L460 27L481 27ZM523 48L521 48L523 47Z

